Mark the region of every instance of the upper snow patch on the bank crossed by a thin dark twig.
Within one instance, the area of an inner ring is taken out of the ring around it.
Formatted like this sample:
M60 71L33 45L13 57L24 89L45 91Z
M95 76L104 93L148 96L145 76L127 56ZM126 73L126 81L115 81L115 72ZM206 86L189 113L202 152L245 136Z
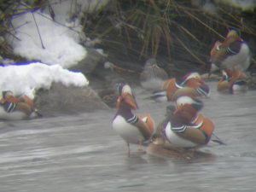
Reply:
M18 15L12 23L17 28L16 38L12 39L14 52L16 55L26 57L29 61L71 67L86 56L86 50L77 42L76 32L73 31L75 29L61 26L51 20L49 15L40 11L29 12Z

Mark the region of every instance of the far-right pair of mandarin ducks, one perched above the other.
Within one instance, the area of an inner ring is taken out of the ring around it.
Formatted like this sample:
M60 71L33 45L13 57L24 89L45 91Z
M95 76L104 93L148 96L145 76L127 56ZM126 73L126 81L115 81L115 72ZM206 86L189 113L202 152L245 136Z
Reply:
M251 64L250 49L240 37L240 32L230 30L223 43L217 41L211 50L211 72L221 70L217 89L234 93L247 90L245 71Z

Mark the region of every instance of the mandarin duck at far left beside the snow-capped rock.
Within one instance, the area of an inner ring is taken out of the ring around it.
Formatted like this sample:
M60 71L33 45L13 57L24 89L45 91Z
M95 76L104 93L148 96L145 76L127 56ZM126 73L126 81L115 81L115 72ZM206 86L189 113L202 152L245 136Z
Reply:
M0 99L0 119L31 119L41 116L28 96L13 96L12 91L2 91Z

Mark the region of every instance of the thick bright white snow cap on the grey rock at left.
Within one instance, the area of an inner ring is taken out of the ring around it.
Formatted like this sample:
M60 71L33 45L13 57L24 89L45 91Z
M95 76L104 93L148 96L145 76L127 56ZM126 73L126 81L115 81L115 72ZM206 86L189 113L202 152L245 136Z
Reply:
M80 87L89 84L83 73L68 71L60 65L48 66L40 62L0 67L0 77L2 91L11 90L15 96L26 95L32 99L38 89L48 90L53 82Z

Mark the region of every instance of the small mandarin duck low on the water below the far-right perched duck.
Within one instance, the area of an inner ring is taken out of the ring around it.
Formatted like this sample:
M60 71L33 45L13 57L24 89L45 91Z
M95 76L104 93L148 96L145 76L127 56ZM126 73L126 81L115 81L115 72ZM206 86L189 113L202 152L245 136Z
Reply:
M235 93L237 91L247 91L246 76L241 71L230 69L221 70L222 78L219 79L217 90L222 93Z

